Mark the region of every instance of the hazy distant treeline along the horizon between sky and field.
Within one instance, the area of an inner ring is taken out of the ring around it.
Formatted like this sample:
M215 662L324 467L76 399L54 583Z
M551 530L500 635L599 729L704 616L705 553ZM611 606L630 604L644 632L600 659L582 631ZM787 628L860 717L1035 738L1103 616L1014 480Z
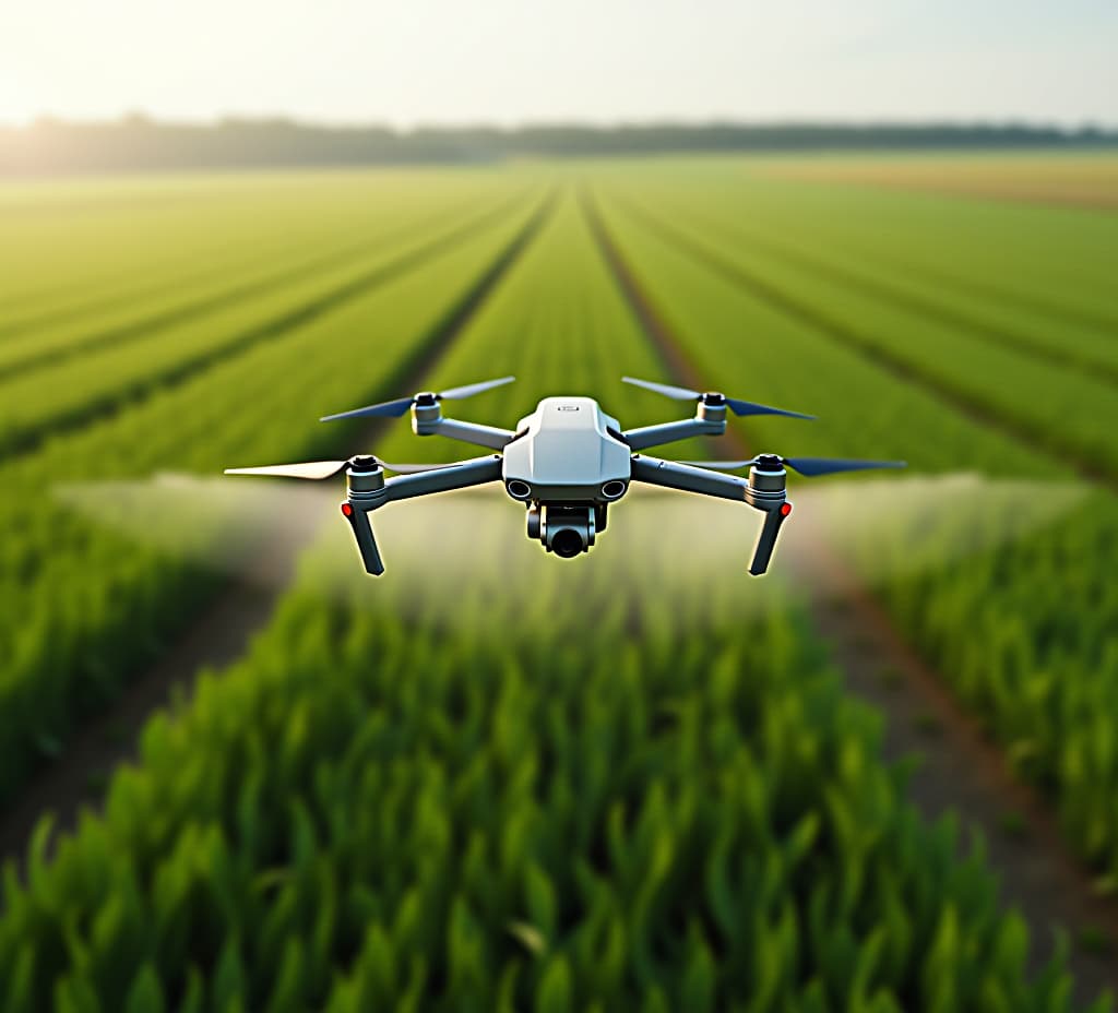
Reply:
M1024 124L651 124L330 127L288 120L111 123L40 120L0 127L0 173L41 174L159 169L489 162L523 157L642 155L718 151L873 151L1083 148L1118 144L1118 132Z

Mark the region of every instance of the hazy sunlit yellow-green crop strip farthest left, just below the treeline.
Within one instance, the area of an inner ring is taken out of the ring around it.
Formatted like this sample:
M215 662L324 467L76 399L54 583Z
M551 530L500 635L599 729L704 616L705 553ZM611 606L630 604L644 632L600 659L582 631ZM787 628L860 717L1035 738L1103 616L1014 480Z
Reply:
M141 302L220 283L395 217L495 190L476 173L245 174L54 184L4 203L0 339L91 320L121 325ZM0 195L2 199L2 195Z

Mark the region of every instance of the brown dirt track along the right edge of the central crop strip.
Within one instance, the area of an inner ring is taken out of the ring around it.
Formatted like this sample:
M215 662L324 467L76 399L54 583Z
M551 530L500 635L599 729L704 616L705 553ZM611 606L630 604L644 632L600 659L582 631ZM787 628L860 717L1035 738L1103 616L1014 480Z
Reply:
M585 191L582 209L618 287L671 376L684 386L707 389ZM722 445L730 448L728 456L750 456L732 428ZM800 553L811 558L812 572L804 579L827 588L813 605L816 628L830 643L846 687L885 718L885 759L919 757L908 797L929 820L955 810L966 829L982 831L1004 898L1029 922L1033 967L1051 954L1053 930L1060 926L1073 940L1083 934L1097 936L1099 952L1076 945L1069 956L1076 997L1087 1003L1102 988L1118 993L1118 967L1102 952L1118 940L1118 908L1096 896L1090 872L1067 846L1051 810L1014 778L997 746L947 691L947 681L906 644L881 605L809 526L800 523L795 537L811 542Z

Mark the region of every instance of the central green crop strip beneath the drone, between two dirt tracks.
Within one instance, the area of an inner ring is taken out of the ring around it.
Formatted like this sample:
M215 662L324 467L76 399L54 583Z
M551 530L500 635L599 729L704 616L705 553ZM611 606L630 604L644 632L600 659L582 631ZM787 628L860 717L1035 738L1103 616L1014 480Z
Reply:
M652 366L606 278L567 203L447 375L571 389L552 312L597 339L591 392ZM565 562L485 492L378 513L377 581L330 526L104 820L49 864L40 829L6 884L7 1010L1070 1007L779 586L710 594L745 508L697 530L637 496Z

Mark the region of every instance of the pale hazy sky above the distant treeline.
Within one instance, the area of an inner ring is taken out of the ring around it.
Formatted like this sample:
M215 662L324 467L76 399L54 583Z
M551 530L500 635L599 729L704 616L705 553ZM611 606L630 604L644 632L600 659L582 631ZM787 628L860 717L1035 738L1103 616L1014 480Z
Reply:
M0 0L0 122L1118 125L1118 0Z

